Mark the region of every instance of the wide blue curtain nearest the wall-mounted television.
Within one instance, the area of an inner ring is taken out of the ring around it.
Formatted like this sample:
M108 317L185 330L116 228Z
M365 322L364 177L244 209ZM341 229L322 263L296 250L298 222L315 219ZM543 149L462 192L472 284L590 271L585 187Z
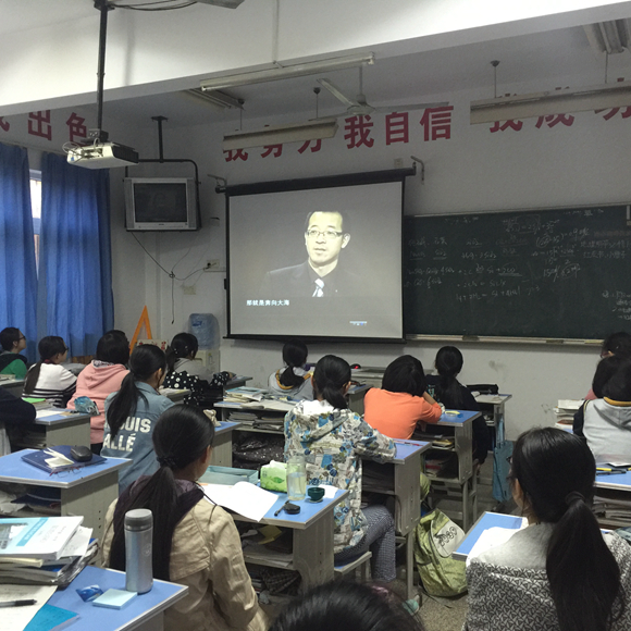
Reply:
M109 183L107 169L42 157L38 327L75 356L94 355L114 324Z

